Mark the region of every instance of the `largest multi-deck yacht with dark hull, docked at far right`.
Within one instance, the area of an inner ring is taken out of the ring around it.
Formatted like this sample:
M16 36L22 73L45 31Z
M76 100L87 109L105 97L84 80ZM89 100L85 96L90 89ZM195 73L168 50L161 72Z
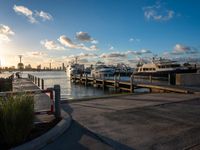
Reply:
M196 73L197 69L192 66L183 66L176 61L163 58L153 58L150 63L138 63L134 75L167 77L169 74Z

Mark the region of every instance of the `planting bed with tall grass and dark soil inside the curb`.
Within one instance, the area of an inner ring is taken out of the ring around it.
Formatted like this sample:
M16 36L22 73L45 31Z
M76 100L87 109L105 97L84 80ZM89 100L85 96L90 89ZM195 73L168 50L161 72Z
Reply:
M47 123L34 124L37 117L33 95L21 93L0 97L0 150L35 139L60 121L53 117Z

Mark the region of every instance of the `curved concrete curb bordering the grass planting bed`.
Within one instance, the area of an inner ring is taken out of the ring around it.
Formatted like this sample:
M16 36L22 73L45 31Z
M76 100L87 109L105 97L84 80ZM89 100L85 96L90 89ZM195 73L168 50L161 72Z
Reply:
M45 145L53 142L56 138L62 135L71 125L72 118L69 114L62 111L63 119L51 130L45 134L33 139L27 143L11 148L11 150L38 150Z

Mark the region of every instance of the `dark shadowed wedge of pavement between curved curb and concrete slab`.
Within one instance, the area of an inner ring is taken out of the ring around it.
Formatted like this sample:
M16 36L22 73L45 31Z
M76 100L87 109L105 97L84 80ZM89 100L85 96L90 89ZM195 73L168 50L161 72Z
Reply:
M70 128L42 150L113 150L94 133L72 121Z

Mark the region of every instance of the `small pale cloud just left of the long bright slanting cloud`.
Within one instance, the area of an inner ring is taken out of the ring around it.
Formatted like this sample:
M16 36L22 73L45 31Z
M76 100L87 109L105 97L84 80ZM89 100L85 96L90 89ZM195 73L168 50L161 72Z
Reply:
M40 43L48 50L66 50L63 46L52 40L43 40Z

